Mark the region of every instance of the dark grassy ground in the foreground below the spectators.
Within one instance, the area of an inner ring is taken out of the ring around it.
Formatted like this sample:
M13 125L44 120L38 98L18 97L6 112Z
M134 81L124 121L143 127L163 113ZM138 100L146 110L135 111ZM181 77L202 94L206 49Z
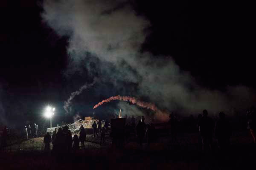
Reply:
M18 149L13 144L0 153L0 167L4 170L56 170L56 169L169 169L169 170L227 170L246 169L255 166L256 148L249 132L233 133L231 146L226 152L218 150L204 153L198 147L197 133L179 134L177 142L170 143L169 136L162 136L143 149L135 142L129 142L122 150L112 148L109 139L105 146L98 144L98 138L88 136L86 149L77 153L53 155L45 153L42 139L23 142ZM253 168L254 169L254 168Z

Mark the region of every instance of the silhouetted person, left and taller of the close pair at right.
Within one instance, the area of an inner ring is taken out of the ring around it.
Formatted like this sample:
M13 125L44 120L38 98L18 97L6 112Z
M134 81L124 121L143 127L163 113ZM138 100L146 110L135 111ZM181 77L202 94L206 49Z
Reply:
M200 122L200 134L202 136L203 150L211 150L213 129L214 123L212 119L208 117L207 110L204 110L203 117Z

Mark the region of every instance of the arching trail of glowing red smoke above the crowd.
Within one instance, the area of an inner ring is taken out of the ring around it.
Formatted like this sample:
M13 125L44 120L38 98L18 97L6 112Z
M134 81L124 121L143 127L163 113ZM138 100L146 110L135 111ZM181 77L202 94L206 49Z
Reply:
M134 97L119 96L119 95L118 96L112 96L108 99L103 100L102 102L99 102L97 105L95 105L93 107L93 109L98 108L103 103L111 102L112 100L121 100L121 101L131 102L132 104L136 104L136 105L138 105L142 108L147 108L147 109L151 109L152 111L159 112L159 109L153 103L141 102L141 101L137 100Z

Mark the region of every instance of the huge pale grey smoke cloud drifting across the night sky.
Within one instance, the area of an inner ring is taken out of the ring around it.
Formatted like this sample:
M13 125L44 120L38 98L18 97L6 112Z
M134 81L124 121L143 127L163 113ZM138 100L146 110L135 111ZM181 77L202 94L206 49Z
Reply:
M255 101L255 91L243 85L227 87L224 92L209 90L198 85L171 57L141 53L150 22L137 15L126 0L45 0L43 6L44 21L59 35L70 37L70 70L83 63L90 71L99 72L101 95L118 89L122 96L143 96L158 108L183 114L203 109L210 114L243 111ZM87 67L87 62L96 63L96 67ZM106 84L114 88L107 86L108 92L103 91ZM157 113L167 119L165 113Z

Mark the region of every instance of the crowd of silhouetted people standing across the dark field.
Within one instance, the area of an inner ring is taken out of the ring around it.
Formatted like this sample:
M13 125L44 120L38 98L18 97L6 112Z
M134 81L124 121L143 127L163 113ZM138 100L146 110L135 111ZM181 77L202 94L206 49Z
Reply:
M169 118L170 119L168 122L168 128L169 135L171 137L170 142L174 143L177 139L177 125L179 123L177 122L177 119L173 114L170 114ZM191 120L192 118L189 117L189 119ZM125 129L118 133L117 137L113 137L112 134L112 139L119 138L123 142L126 135L129 135L128 129L131 128L136 134L137 143L140 145L140 147L143 146L144 139L146 139L146 142L148 144L155 142L157 139L157 131L155 125L152 122L149 124L145 124L144 120L145 118L144 116L142 116L136 125L135 118L134 116L132 116L130 122L125 126ZM189 126L190 124L191 126ZM188 126L189 128L192 128L194 124L190 124ZM247 124L247 128L250 130L250 133L253 137L253 142L256 143L256 109L254 107L251 107L249 110L247 110ZM108 122L105 122L105 125L108 126ZM94 137L98 136L98 134L100 135L100 144L102 144L102 142L105 143L105 133L108 128L105 126L102 127L102 122L99 121L98 126L96 122L93 122L92 129ZM204 110L202 114L198 114L197 129L199 134L198 144L202 150L212 150L212 143L214 137L217 140L218 147L221 150L225 150L229 147L232 130L230 127L230 123L226 119L226 115L223 112L220 112L218 114L218 119L214 121L208 116L208 111ZM47 135L44 137L45 150L49 150L50 142L52 142L53 145L52 150L57 153L70 152L72 149L79 150L79 142L81 142L81 148L84 149L85 140L86 132L83 125L81 125L80 127L79 136L74 135L73 138L68 127L64 126L63 129L58 128L58 132L54 132L52 137L49 135L49 133L47 133Z

